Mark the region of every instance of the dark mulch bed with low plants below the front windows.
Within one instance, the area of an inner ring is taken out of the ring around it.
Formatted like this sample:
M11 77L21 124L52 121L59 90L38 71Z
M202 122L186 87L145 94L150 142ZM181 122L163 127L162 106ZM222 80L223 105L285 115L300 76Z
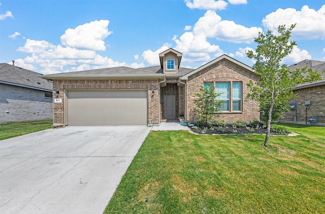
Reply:
M212 128L214 128L213 130L208 129L205 131L205 133L203 133L203 127L198 127L198 129L191 129L192 132L197 133L197 134L206 134L206 135L212 135L212 134L266 134L266 129L254 129L254 131L249 131L248 128L250 130L252 130L253 128L250 126L247 127L237 127L236 129L233 128L232 125L226 125L225 127L215 127L212 126ZM276 132L272 132L271 130L271 135L283 135L280 133L276 133ZM288 133L287 133L288 134ZM285 135L287 135L285 134Z

